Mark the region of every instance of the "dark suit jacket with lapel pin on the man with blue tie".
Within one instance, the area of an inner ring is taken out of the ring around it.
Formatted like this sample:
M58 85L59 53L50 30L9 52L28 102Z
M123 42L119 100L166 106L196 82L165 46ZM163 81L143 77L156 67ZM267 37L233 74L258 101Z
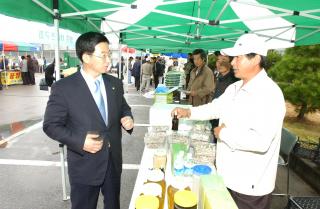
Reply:
M52 85L43 130L50 138L67 145L70 183L102 184L110 152L116 173L120 176L122 172L120 119L132 117L131 108L123 97L122 82L111 75L103 75L103 80L108 100L108 126L80 72ZM102 150L95 154L83 150L87 131L99 131L104 139Z

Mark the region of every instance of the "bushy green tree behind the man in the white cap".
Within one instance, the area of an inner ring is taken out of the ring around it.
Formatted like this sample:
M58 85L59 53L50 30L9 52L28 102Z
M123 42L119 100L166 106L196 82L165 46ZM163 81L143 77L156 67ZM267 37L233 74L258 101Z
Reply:
M320 45L289 48L269 71L286 100L296 106L298 119L320 109L319 55Z

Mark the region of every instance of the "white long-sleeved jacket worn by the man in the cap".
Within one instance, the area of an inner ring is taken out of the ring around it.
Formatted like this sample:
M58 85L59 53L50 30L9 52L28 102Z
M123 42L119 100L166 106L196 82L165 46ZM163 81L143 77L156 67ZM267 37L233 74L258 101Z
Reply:
M248 83L231 84L218 99L191 108L190 119L219 118L217 171L228 188L262 196L274 190L285 116L282 91L260 71Z

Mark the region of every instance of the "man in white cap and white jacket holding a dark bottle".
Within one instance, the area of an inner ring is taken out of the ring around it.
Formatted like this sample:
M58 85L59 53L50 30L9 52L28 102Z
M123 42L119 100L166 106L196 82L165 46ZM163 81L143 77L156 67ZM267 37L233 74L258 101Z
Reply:
M211 103L176 108L179 118L220 119L216 166L239 209L269 209L275 187L285 101L281 89L264 70L265 43L255 34L242 35L223 54L237 81Z

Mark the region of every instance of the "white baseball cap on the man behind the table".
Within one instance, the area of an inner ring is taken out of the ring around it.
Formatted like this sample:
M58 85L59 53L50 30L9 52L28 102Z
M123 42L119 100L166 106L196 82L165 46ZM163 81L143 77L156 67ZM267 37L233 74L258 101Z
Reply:
M250 53L267 56L268 49L262 38L256 34L244 34L240 36L232 48L222 49L223 55L239 56Z

